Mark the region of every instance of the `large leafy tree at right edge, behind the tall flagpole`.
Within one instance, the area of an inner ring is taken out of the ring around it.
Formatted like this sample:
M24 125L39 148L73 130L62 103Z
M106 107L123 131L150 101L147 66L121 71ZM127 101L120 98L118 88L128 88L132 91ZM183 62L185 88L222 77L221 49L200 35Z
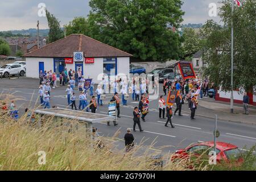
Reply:
M223 90L231 89L231 21L234 24L234 88L251 91L256 85L256 1L246 0L242 7L235 7L231 14L231 2L224 1L220 17L221 27L209 20L201 31L206 40L203 60L208 67L204 75Z

